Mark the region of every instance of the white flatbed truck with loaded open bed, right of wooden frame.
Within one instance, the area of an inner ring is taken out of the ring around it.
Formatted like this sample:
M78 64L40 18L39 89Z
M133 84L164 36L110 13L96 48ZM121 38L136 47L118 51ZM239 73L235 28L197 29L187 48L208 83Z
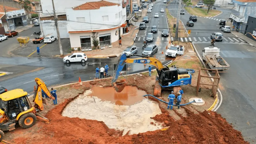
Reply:
M217 47L205 47L203 50L203 61L211 69L217 69L218 72L227 72L230 65L220 56L220 49Z

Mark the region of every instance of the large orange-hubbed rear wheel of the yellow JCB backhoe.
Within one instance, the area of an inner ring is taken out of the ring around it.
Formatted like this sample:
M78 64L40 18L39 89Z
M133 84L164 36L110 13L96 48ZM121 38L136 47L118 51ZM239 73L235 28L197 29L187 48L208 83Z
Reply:
M19 125L24 129L32 127L35 123L36 123L36 115L33 113L26 113L20 116Z

